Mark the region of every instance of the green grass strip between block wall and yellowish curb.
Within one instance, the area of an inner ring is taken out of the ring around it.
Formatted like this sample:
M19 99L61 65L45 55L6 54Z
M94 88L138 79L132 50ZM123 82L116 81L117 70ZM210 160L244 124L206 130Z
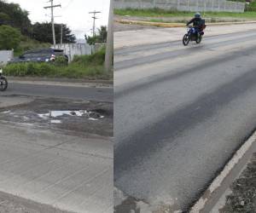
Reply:
M255 5L256 6L256 5ZM130 15L137 17L193 17L194 12L176 11L176 10L165 10L165 9L114 9L114 14L118 15ZM230 12L205 12L204 18L237 18L237 19L250 19L256 20L256 11L249 11L245 13L230 13Z

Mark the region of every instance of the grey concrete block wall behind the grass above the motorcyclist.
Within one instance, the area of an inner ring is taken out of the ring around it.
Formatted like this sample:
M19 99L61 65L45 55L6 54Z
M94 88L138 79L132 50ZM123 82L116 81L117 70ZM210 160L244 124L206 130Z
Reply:
M113 0L115 9L173 9L182 11L244 12L245 3L226 0Z

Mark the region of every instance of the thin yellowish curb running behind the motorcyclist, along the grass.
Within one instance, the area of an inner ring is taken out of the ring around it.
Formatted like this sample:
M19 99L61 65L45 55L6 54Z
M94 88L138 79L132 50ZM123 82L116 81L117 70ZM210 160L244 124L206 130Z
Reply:
M127 25L142 25L142 26L160 26L160 27L185 27L183 23L164 23L164 22L152 22L143 20L115 20L120 24ZM243 25L243 24L256 24L256 21L237 21L237 22L216 22L207 23L207 26L229 26L229 25Z

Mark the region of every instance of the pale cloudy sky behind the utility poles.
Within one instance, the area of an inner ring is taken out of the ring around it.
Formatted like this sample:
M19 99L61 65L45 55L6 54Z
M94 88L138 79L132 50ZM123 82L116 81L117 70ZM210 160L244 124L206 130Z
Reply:
M19 3L22 9L29 12L29 18L34 22L50 21L49 0L7 0L8 3ZM84 38L84 34L91 34L92 14L90 11L101 11L97 14L96 27L108 25L110 0L54 0L54 4L61 4L55 8L56 23L67 24L77 38Z

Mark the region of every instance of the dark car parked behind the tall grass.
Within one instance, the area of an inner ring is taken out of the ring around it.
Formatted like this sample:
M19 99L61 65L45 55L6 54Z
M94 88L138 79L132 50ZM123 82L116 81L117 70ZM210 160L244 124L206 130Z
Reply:
M68 62L67 55L64 54L62 49L34 49L25 52L13 60L9 60L9 64L21 62L53 62L58 56L64 56Z

